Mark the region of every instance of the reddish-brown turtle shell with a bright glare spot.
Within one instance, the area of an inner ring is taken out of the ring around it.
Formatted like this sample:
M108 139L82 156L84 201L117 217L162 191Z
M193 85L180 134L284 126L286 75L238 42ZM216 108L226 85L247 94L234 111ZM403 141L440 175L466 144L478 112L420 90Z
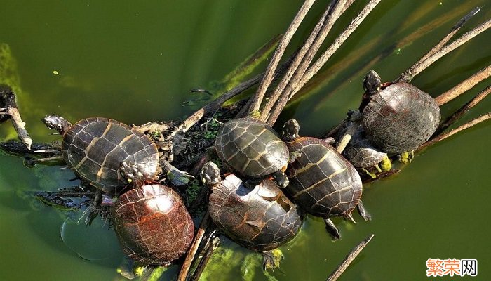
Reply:
M123 193L114 204L112 218L125 254L144 265L178 259L194 236L184 202L165 185L143 185Z

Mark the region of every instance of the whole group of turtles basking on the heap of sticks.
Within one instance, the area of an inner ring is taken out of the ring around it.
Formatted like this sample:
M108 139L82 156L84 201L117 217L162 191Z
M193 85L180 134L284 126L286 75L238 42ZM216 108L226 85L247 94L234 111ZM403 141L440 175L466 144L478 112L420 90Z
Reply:
M210 188L208 213L215 225L243 247L269 254L297 235L301 210L323 218L334 237L339 232L330 218L352 220L358 207L368 220L357 168L415 150L436 131L440 112L428 94L407 83L382 84L374 71L363 86L357 117L351 118L356 133L344 156L333 138L300 136L295 119L285 122L281 137L250 117L223 124L215 151L228 173L222 176L217 164L207 162L200 174ZM72 125L48 115L43 122L62 134L62 155L74 172L117 196L112 221L128 256L165 265L187 251L193 221L177 192L153 181L161 161L148 136L100 117Z

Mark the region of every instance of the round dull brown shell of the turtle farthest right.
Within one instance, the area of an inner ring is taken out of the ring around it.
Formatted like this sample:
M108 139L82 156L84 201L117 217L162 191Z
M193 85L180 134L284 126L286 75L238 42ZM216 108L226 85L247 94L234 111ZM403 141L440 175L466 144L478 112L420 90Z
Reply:
M436 101L408 83L389 84L370 97L362 124L368 138L388 153L415 150L433 135L440 122Z

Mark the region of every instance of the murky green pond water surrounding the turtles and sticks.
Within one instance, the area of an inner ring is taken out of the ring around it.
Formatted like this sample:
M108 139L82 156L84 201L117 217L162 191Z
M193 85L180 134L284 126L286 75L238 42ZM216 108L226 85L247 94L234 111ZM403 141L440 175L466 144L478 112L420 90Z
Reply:
M192 109L180 106L194 97L189 89L210 87L283 32L300 4L2 1L0 44L8 44L16 61L12 75L20 81L20 110L27 129L34 140L51 141L51 132L40 122L50 113L72 121L97 115L135 124L189 115ZM323 5L314 6L293 46L307 38ZM357 1L334 31L342 30L361 6ZM483 6L483 11L464 31L491 17L489 1L382 1L281 119L295 117L302 134L321 135L358 105L364 72L373 68L383 79L394 79L475 6ZM480 34L413 83L437 96L489 65L490 43L489 31ZM489 83L487 79L444 105L443 116ZM458 124L490 108L487 98ZM0 133L12 136L11 125L1 124ZM429 258L478 259L478 277L453 279L490 280L490 139L490 122L479 124L419 153L401 174L365 185L363 199L373 219L366 223L356 214L357 225L336 220L342 240L332 242L322 221L309 217L299 237L282 248L285 259L271 275L278 280L324 280L355 244L374 233L341 280L425 280ZM29 169L22 159L8 155L0 155L0 167L0 280L118 277L115 268L122 253L112 230L101 223L90 230L64 226L60 211L26 193L70 185L71 171ZM245 260L249 267L242 265L249 251L231 242L225 247L236 250L235 261L213 263L209 280L240 280L241 266L254 273L254 280L267 280L253 259ZM172 269L162 280L174 275Z

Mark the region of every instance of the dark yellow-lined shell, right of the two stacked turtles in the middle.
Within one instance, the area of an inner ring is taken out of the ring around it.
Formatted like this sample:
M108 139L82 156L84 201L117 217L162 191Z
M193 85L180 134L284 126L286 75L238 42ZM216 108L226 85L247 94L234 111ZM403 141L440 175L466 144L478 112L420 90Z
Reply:
M285 188L302 209L314 216L345 216L358 204L362 183L355 167L318 138L287 142L297 158L287 169Z

